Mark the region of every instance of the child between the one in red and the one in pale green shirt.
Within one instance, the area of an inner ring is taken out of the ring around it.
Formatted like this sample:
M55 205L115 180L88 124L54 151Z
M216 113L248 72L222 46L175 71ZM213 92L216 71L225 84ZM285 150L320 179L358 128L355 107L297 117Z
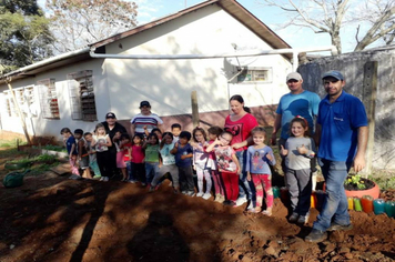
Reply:
M149 134L143 149L145 150L145 179L151 187L152 179L159 171L159 139L155 133Z

